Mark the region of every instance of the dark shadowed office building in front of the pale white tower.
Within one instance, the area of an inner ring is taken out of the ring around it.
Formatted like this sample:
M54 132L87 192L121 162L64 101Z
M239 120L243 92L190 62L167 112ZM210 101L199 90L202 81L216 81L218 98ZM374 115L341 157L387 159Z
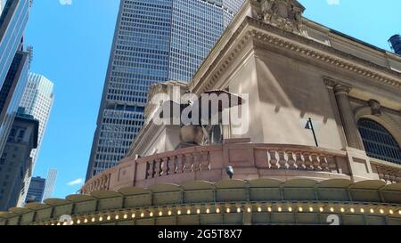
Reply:
M0 210L16 207L26 174L31 174L30 152L37 148L38 121L20 109L0 158Z

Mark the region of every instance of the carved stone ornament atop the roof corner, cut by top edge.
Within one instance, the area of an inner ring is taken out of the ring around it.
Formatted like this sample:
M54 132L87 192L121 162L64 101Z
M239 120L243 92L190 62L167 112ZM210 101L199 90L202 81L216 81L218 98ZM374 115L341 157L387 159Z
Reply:
M300 33L305 7L297 0L262 0L262 19L290 32Z

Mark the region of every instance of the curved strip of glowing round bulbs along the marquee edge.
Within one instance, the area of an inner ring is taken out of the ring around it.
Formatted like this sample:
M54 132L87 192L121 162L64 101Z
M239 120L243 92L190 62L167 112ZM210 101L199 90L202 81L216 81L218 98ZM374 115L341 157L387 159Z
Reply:
M398 209L397 209L398 207ZM323 204L315 203L250 203L250 204L208 204L201 206L182 205L173 207L143 207L129 210L115 210L90 215L72 217L70 225L83 225L107 222L123 222L127 220L180 215L209 215L209 214L241 214L241 213L291 213L291 214L346 214L346 215L382 215L401 216L400 206L382 204ZM34 223L36 225L68 225L57 220Z

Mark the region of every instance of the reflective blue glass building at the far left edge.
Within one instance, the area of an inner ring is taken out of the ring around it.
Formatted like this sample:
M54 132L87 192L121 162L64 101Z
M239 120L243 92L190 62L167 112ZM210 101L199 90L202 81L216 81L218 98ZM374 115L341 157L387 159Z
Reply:
M23 52L23 34L29 19L29 0L3 2L0 16L0 152L10 132L28 80L29 58Z

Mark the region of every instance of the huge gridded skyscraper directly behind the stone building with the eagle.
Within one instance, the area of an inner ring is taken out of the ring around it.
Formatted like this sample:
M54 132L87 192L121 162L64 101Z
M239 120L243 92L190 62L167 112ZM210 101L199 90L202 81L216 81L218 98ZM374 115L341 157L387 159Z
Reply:
M121 0L86 180L125 156L149 86L189 81L242 3Z

